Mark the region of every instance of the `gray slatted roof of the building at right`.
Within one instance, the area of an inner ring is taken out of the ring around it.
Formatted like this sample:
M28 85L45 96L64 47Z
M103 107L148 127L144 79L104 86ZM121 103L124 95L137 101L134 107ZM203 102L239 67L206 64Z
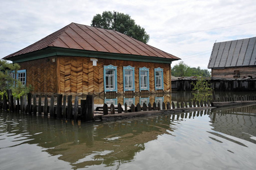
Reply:
M256 37L216 42L209 60L209 69L256 65Z

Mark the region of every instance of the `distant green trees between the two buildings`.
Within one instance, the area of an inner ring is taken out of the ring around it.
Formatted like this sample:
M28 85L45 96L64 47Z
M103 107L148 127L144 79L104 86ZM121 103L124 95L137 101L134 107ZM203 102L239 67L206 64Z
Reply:
M207 69L202 70L200 67L190 67L183 61L179 62L171 69L171 75L173 76L211 76Z

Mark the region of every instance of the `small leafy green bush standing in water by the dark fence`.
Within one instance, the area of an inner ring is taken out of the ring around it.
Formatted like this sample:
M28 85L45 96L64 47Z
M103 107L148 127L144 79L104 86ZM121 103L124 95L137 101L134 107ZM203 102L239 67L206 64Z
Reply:
M211 83L206 78L198 77L196 83L191 83L193 88L194 100L196 101L207 101L211 100L213 89L211 88Z

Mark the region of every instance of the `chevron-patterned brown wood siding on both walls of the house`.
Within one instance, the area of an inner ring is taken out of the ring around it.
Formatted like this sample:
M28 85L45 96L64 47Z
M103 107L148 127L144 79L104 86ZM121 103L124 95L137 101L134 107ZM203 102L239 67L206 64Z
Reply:
M53 60L54 59L54 62ZM135 91L139 92L139 68L149 68L150 92L154 90L154 68L163 69L164 91L170 92L170 65L163 63L132 62L100 59L96 66L89 57L51 57L20 63L27 70L27 84L38 93L100 94L104 92L103 66L117 66L117 92L123 90L123 66L135 67ZM162 92L159 91L160 93ZM147 94L148 91L141 91Z

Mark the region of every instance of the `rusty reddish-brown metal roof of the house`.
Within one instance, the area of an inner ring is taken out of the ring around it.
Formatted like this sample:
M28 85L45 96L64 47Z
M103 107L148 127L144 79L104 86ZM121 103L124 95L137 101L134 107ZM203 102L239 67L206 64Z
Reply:
M47 48L48 46L90 50L95 52L180 59L122 33L77 23L71 23L51 35L44 37L44 39L41 39L18 52L12 53L3 59L11 59L11 57L35 52Z

